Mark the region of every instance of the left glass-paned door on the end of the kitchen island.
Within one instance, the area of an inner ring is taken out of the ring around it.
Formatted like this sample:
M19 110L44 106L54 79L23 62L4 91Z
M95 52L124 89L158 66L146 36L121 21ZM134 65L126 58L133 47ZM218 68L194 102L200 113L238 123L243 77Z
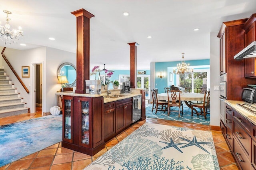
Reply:
M64 97L64 115L63 115L63 139L71 140L72 138L72 110L73 110L73 98Z

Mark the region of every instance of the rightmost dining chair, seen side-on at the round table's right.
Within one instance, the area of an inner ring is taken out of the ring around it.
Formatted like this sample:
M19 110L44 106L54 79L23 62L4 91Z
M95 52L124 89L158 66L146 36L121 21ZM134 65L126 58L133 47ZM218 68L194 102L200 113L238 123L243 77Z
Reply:
M200 112L195 110L197 116L203 115L206 119L206 114L210 114L210 112L206 112L208 109L210 109L210 91L204 92L204 102L191 104L191 116L193 116L193 108L195 107L200 108Z

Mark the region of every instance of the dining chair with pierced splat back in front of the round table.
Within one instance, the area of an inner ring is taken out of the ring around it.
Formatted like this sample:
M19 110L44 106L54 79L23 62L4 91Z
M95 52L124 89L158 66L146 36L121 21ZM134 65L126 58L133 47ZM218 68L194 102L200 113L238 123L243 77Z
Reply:
M180 90L167 90L167 96L168 96L167 113L168 113L168 116L169 116L170 112L173 111L173 112L179 112L179 117L180 117L180 107L182 107L182 115L183 115L183 104L182 104L181 100L177 100L177 95L179 95L179 99L180 99ZM171 107L179 107L179 111L171 110Z

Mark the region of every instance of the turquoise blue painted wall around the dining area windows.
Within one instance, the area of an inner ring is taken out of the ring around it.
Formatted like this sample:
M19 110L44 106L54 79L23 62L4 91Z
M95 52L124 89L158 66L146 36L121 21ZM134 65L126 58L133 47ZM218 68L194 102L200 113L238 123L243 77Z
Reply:
M186 60L187 64L189 63L190 66L201 66L201 65L210 65L210 59L207 60ZM164 92L164 88L167 86L168 80L168 67L176 67L177 64L181 63L181 61L176 62L156 62L155 63L155 88L158 88L159 93ZM195 68L196 69L196 68ZM162 72L164 74L163 78L159 78L158 75ZM173 84L176 83L176 75L174 75Z

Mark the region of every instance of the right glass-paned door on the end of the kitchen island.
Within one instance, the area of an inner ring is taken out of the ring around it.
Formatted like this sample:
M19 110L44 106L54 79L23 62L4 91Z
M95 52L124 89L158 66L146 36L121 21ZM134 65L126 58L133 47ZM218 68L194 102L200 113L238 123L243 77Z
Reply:
M81 143L89 144L89 102L80 100L81 111Z

